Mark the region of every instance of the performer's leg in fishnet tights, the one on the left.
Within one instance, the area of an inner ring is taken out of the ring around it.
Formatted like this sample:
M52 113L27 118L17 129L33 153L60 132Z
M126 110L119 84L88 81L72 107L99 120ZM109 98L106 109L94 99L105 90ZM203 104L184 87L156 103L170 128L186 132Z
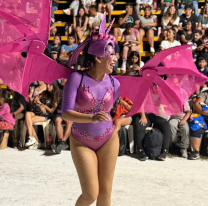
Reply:
M87 148L72 135L70 146L82 188L82 194L75 206L89 206L97 199L99 193L97 156L93 150Z

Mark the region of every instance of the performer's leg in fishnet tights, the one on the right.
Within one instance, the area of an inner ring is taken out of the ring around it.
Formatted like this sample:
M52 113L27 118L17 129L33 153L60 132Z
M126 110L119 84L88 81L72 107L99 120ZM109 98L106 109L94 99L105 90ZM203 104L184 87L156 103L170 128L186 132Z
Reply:
M110 206L111 204L111 191L118 150L119 138L115 130L112 137L96 151L99 178L97 206Z

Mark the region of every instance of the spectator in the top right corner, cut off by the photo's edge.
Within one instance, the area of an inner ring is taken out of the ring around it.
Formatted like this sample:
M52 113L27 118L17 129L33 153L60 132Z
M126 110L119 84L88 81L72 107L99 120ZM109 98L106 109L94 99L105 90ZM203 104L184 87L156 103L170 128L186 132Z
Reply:
M208 2L205 3L201 15L199 15L198 29L202 30L202 35L208 34Z

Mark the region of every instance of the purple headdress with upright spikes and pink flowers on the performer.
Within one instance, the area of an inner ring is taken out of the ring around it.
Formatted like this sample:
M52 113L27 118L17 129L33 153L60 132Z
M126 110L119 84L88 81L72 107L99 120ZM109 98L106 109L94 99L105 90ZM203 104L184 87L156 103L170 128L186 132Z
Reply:
M108 44L111 44L113 47L115 47L116 38L112 35L109 35L110 29L114 21L115 19L113 19L110 25L106 28L106 12L104 13L99 31L93 31L91 36L87 37L86 40L77 47L77 49L74 51L73 55L69 59L69 67L75 64L80 52L83 51L83 49L88 44L90 44L88 48L88 53L98 57L104 57L105 48Z

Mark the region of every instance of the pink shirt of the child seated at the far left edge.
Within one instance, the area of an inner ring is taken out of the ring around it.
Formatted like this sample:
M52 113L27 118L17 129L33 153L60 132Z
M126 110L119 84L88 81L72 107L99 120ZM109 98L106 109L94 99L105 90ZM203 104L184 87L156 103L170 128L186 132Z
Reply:
M15 125L15 119L13 118L10 112L10 107L7 103L0 106L0 121L4 121L8 124Z

